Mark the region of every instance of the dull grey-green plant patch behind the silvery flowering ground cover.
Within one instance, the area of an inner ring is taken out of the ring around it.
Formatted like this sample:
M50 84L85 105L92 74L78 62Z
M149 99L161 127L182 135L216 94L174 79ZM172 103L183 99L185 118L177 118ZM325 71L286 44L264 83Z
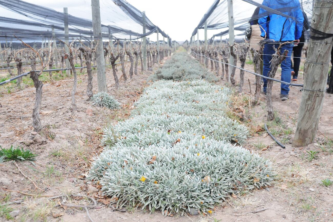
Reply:
M187 53L175 53L148 80L193 80L205 79L208 82L218 81L218 78L207 71L200 63L193 60Z

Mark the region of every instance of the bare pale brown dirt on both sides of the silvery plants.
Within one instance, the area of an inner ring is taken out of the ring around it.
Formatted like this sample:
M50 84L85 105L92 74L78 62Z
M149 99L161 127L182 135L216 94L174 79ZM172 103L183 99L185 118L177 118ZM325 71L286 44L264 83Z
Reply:
M153 68L156 70L157 66ZM253 70L253 65L245 68ZM43 130L36 135L32 132L31 113L34 104L35 88L26 88L13 93L3 93L0 108L0 145L9 148L20 145L31 149L39 156L35 164L27 161L17 162L18 167L40 191L18 170L14 162L0 164L0 204L13 200L23 200L20 205L9 205L19 210L13 221L90 221L85 209L67 206L56 206L61 198L49 200L51 196L61 194L87 195L88 187L85 175L91 162L103 147L100 145L103 127L116 124L130 115L133 102L136 101L149 84L146 82L151 72L134 76L132 80L120 82L117 89L113 86L113 76L108 70L108 92L121 102L123 108L112 111L90 105L86 97L87 80L79 76L76 93L78 112L72 114L71 96L73 79L55 83L44 83L41 107ZM239 71L236 70L236 80ZM280 78L278 71L276 78ZM252 93L250 93L251 84ZM265 97L261 95L260 103L252 106L255 77L245 73L243 93L235 93L231 99L231 109L243 116L239 121L249 127L251 136L243 146L271 159L278 173L275 186L254 190L246 196L233 196L220 206L216 206L210 215L173 215L163 216L160 211L152 214L143 210L113 210L108 206L89 209L90 217L95 221L333 221L333 185L323 186L321 180L332 176L333 156L327 149L323 151L319 143L325 136L333 138L333 97L325 94L323 111L319 123L317 143L307 147L293 148L291 141L295 131L298 107L302 92L291 88L288 101L279 98L280 84L273 85L273 105L276 111L274 121L268 122L269 129L282 141L286 148L276 145L265 131L266 121ZM96 83L96 75L94 76ZM302 76L299 76L302 83ZM227 85L221 80L219 85ZM94 90L96 92L96 84ZM235 92L237 92L235 90ZM89 113L92 110L92 115ZM237 117L237 116L236 116ZM236 118L235 117L235 118ZM237 118L236 118L237 119ZM259 126L259 127L258 127ZM320 132L322 133L320 133ZM324 135L323 135L324 134ZM322 146L323 147L323 146ZM327 147L326 147L327 148ZM316 158L309 161L306 151L319 151ZM95 188L96 189L96 188ZM18 191L18 192L17 192ZM21 193L19 193L21 192ZM30 195L23 194L28 193ZM91 193L98 204L107 203L99 193ZM49 197L41 197L49 196ZM67 197L66 203L92 205L87 198ZM61 204L61 203L60 203ZM266 209L267 208L267 209ZM262 210L254 212L256 210ZM3 208L0 206L0 213ZM6 221L4 217L0 221Z

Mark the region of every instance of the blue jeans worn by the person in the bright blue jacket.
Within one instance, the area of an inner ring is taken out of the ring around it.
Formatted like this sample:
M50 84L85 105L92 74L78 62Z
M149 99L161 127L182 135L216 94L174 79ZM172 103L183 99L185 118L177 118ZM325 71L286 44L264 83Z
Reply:
M275 49L277 49L279 47L279 44L265 44L264 47L264 68L263 68L263 72L262 75L269 77L268 76L268 72L270 70L269 66L270 66L270 61L272 60L272 54L275 53L275 50L273 49L273 46L275 46ZM281 80L287 83L290 83L291 80L291 52L292 52L292 48L293 48L294 44L291 43L287 43L285 45L283 45L280 50L281 50L281 54L284 52L284 50L289 50L288 52L288 57L286 57L285 60L283 60L283 62L281 63ZM267 90L267 79L264 78L264 87L263 87L263 91L266 92ZM283 83L281 83L281 94L282 95L288 95L289 94L289 86L285 85Z

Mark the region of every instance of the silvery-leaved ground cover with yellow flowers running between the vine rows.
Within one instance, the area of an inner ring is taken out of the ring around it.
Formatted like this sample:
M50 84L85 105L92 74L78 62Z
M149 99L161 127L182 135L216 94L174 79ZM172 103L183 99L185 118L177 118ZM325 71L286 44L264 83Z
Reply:
M104 129L88 179L119 207L163 214L212 213L231 193L271 185L271 162L237 145L248 130L227 117L230 94L204 80L155 82L129 119Z

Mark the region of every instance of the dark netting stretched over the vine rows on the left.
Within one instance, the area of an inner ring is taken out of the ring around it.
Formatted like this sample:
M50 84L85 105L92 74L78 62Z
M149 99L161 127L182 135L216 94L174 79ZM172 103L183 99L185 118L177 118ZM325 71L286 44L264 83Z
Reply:
M90 1L71 1L68 14L55 2L0 0L0 39L41 40L57 38L63 40L64 24L68 24L69 38L90 41L93 38L92 10ZM55 5L54 7L52 7ZM80 10L77 6L80 5ZM52 7L52 8L51 8ZM170 40L169 36L146 20L146 33L143 33L143 12L125 0L100 1L102 36L105 39L139 39L159 31ZM68 16L67 16L68 15ZM54 31L52 31L54 30ZM171 41L169 41L171 42Z

